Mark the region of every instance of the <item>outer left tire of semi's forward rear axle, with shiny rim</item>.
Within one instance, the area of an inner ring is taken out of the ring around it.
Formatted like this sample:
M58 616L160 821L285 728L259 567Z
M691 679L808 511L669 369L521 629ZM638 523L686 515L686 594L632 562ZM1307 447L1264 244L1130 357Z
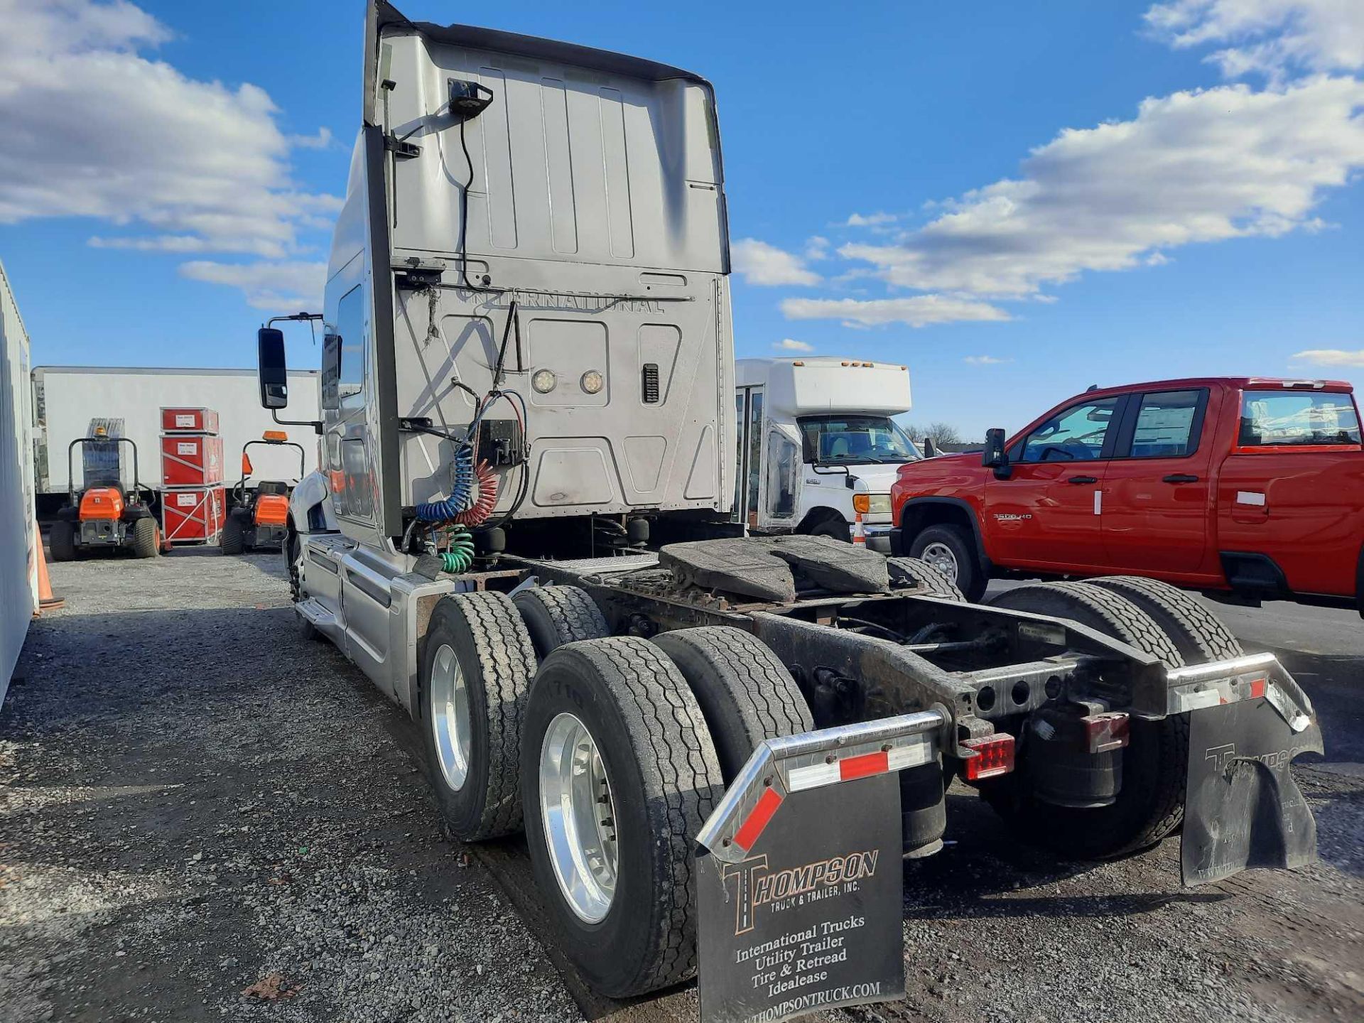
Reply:
M521 719L535 649L506 593L451 593L421 651L426 773L460 842L521 828Z

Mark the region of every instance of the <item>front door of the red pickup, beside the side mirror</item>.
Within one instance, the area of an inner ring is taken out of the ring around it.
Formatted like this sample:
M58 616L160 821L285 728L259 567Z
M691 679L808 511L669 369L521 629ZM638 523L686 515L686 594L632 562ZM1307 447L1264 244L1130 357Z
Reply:
M1079 569L1103 563L1101 487L1124 397L1080 398L1009 449L1005 479L985 481L990 557L1001 565Z

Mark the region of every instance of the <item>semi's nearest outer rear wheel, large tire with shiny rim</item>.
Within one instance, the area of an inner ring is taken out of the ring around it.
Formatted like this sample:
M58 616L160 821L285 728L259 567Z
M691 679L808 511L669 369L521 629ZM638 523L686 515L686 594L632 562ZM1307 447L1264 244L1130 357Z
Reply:
M636 636L554 651L527 707L521 786L551 930L593 990L621 998L692 977L693 840L723 784L701 708L667 655Z

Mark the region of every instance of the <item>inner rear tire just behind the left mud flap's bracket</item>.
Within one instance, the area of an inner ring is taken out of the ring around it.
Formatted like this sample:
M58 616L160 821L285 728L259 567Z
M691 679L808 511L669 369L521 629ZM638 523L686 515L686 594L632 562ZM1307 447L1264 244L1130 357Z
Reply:
M814 730L791 672L753 634L709 625L660 633L653 644L672 659L701 705L726 784L764 739Z

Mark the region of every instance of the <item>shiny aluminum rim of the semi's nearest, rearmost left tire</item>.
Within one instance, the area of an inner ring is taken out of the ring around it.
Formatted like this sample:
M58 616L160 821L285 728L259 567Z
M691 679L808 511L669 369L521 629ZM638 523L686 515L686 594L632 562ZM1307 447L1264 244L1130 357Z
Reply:
M592 732L561 713L540 743L540 820L550 863L569 907L597 923L615 899L615 802Z

